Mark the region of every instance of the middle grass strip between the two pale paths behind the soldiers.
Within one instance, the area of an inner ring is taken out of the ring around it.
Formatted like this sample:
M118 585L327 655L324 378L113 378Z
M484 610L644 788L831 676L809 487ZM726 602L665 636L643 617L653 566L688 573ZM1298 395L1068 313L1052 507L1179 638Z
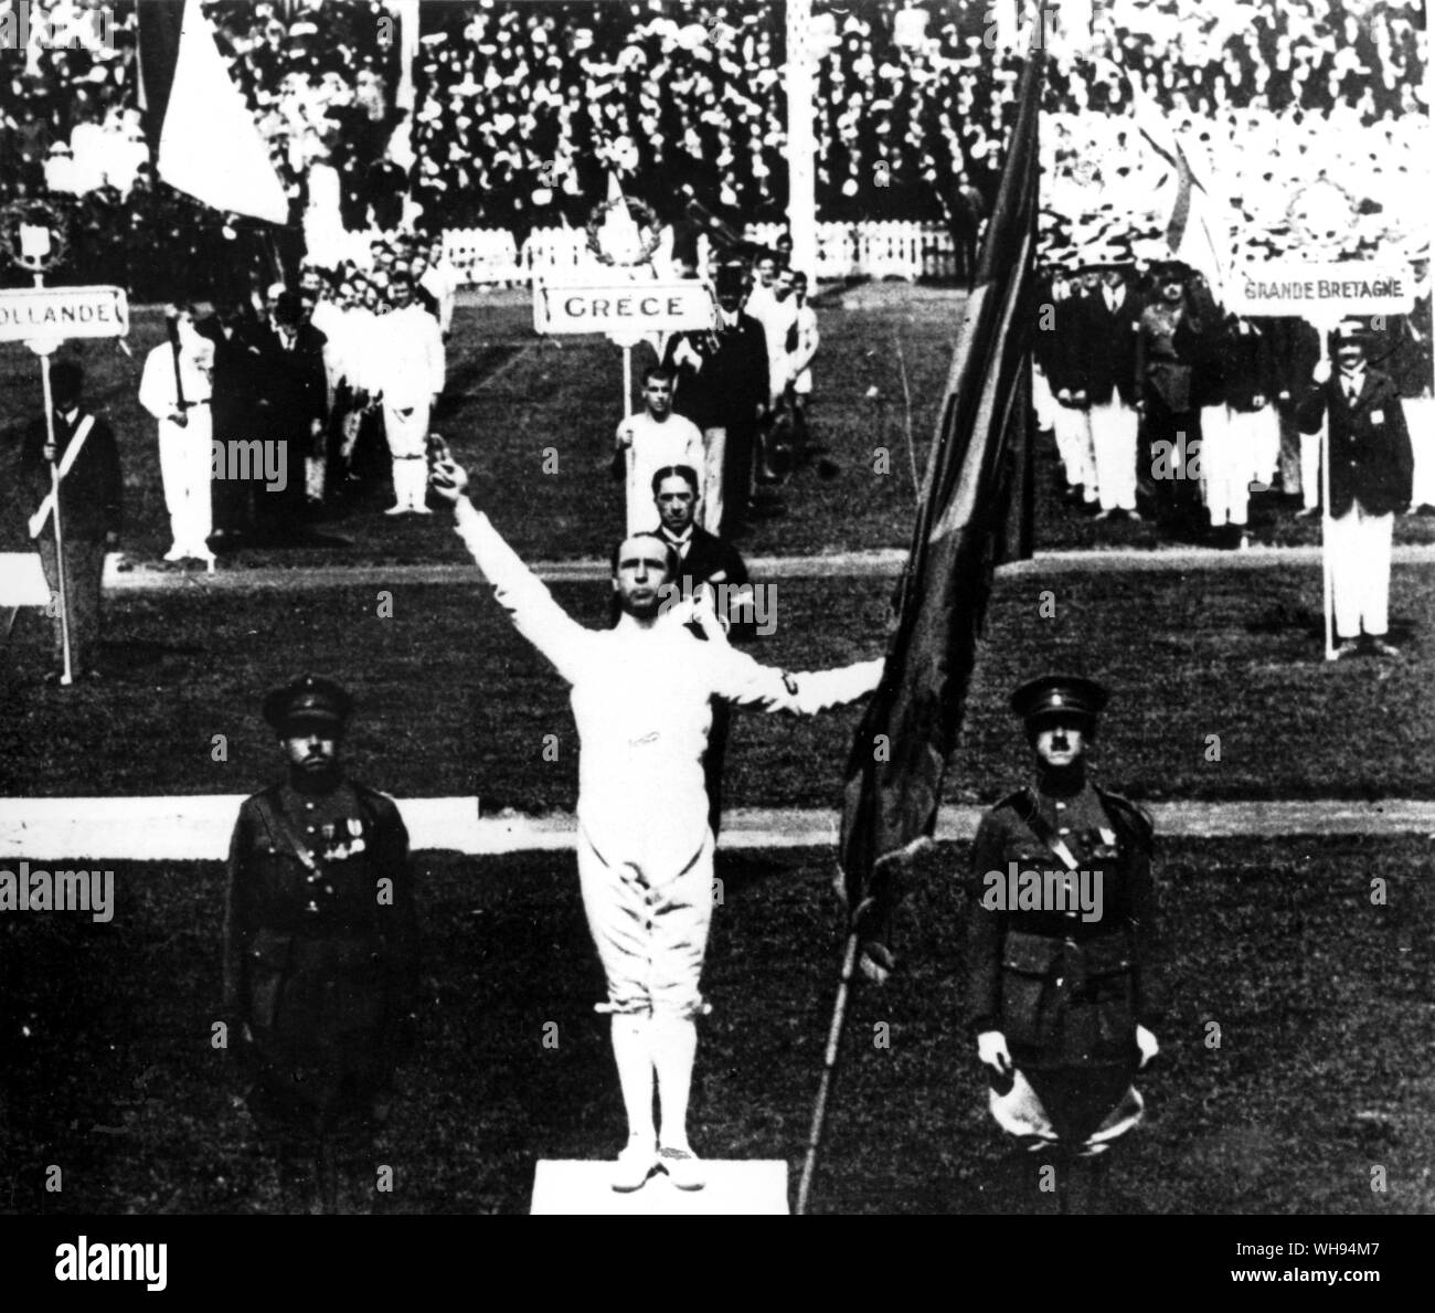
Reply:
M1432 798L1429 706L1435 611L1428 570L1398 567L1396 664L1322 660L1310 567L1181 574L1099 571L999 580L947 794L989 801L1026 769L1010 689L1050 666L1086 669L1116 702L1099 761L1141 798ZM884 580L779 580L775 633L758 657L819 669L878 653ZM1052 591L1056 614L1042 616ZM601 584L557 597L604 623ZM343 679L362 715L356 771L400 796L478 794L486 808L570 809L577 736L567 689L479 584L177 593L112 601L100 684L39 683L47 624L27 616L4 672L0 792L238 794L278 768L258 719L264 690L313 669ZM739 717L730 805L834 806L858 710L812 720ZM214 761L214 735L227 761ZM544 752L558 738L558 759ZM1218 736L1213 756L1213 740Z

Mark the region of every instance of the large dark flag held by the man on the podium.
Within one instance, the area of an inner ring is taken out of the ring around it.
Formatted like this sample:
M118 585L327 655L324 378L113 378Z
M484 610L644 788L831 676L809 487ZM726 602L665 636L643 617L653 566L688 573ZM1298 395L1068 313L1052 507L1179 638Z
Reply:
M867 904L861 933L878 941L898 893L897 877L936 827L993 567L1030 555L1030 352L1039 314L1036 129L1043 59L1033 49L1022 73L1002 185L894 600L883 682L847 766L842 887L854 911Z

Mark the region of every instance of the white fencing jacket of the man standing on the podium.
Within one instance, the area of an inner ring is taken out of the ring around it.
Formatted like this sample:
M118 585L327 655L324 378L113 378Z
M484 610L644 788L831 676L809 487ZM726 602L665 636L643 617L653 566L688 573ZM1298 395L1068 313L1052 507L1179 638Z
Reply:
M684 871L707 837L702 758L713 697L815 715L881 679L881 660L784 674L730 647L716 624L716 637L697 639L676 608L651 629L627 616L616 629L584 629L466 498L455 518L514 626L573 686L578 825L604 861L631 862L654 884Z

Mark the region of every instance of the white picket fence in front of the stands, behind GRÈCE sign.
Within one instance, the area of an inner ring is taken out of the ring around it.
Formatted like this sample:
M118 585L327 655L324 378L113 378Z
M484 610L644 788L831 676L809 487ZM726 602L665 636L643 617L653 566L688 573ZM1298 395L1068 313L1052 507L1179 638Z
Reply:
M753 224L748 238L771 245L781 224ZM956 274L951 234L940 224L898 220L817 225L819 280L832 278L950 278ZM469 286L528 286L534 277L601 265L588 250L580 228L535 228L522 250L507 228L451 228L443 234L449 264ZM712 273L713 251L706 237L697 241L705 274Z

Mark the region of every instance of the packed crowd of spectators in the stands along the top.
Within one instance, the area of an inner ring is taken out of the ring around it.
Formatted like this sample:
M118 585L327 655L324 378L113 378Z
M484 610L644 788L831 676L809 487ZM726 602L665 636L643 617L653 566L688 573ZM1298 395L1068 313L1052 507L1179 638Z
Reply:
M50 151L72 151L80 177L70 171L62 185L79 194L72 204L92 232L82 244L90 263L121 257L136 232L208 254L214 221L171 204L142 165L126 162L136 141L133 4L100 7L112 14L112 49L0 53L0 152L13 165L0 189L43 189ZM733 218L782 217L781 9L587 0L544 6L537 17L497 3L425 6L412 108L397 103L399 43L379 0L220 0L207 11L296 218L321 208L330 228L346 231L481 222L515 230L521 244L532 225L581 222L603 198L610 166L660 212L686 182ZM977 197L990 204L1020 43L1030 39L1013 13L1013 4L986 0L880 0L819 23L824 218L960 225ZM1261 171L1271 178L1230 179L1227 191L1247 211L1261 204L1263 182L1274 194L1352 164L1372 191L1399 194L1421 168L1425 135L1418 19L1412 4L1317 0L1274 14L1256 3L1095 6L1091 40L1071 42L1053 27L1049 42L1046 110L1058 125L1058 162L1083 161L1088 182L1092 169L1115 177L1114 156L1132 145L1135 83L1223 162L1233 141L1273 148L1237 152L1247 169L1271 155ZM1006 49L1013 39L1017 49ZM86 164L102 133L99 154L116 156L109 178L109 165ZM131 273L148 280L152 270L141 265Z

